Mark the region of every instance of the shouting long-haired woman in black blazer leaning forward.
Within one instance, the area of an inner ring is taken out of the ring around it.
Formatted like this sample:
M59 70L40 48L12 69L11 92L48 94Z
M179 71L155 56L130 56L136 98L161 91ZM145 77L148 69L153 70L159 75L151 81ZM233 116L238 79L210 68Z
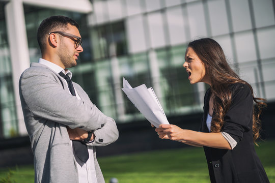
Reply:
M254 97L251 85L230 68L212 39L190 42L183 66L191 84L210 85L200 132L160 125L155 130L159 138L203 146L211 182L269 182L254 148L264 99Z

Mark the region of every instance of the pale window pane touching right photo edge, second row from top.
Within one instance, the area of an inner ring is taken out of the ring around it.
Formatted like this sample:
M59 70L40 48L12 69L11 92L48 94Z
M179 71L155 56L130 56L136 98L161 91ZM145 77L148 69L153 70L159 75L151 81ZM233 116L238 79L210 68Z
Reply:
M275 28L258 29L257 37L261 58L275 57Z

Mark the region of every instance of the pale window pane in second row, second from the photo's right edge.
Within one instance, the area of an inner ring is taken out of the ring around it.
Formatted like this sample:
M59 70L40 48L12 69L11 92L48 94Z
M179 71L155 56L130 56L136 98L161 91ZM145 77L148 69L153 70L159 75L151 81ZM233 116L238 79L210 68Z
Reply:
M239 63L256 60L255 42L251 31L236 34L235 42Z

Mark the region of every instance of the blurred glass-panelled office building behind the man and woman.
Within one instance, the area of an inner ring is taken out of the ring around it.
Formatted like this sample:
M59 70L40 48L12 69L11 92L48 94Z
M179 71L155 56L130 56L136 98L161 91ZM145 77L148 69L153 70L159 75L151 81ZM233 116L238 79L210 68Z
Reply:
M14 89L18 83L11 55L16 53L7 39L5 6L12 1L0 1L0 138L25 135ZM88 13L22 1L29 62L40 57L36 31L43 19L52 15L75 19L84 52L70 69L72 79L118 124L144 118L122 92L123 78L132 86L152 86L168 117L202 111L208 86L189 84L182 66L188 42L202 37L221 44L231 66L253 86L257 97L275 101L272 0L87 0L93 7Z

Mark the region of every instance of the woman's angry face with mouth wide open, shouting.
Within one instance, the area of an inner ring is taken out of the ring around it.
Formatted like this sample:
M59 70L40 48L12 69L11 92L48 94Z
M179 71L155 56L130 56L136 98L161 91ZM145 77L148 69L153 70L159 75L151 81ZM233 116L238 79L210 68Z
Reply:
M205 74L205 67L202 60L191 47L187 47L186 49L183 67L188 73L188 79L191 84L205 82L211 85L210 79Z

